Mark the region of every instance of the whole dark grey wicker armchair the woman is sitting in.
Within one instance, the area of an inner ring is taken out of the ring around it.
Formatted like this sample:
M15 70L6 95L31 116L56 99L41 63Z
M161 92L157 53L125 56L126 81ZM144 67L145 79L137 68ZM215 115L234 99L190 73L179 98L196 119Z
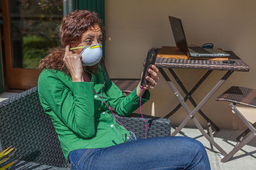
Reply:
M141 138L145 124L139 115L132 116L116 118ZM148 138L170 135L170 120L149 116L145 120L148 122ZM0 103L0 150L10 145L17 148L16 158L22 160L11 169L67 167L52 122L40 106L37 87Z

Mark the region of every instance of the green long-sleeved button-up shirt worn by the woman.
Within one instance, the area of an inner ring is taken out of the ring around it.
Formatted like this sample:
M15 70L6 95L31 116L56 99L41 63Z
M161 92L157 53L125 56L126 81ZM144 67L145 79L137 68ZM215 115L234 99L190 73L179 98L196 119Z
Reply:
M101 66L92 74L90 82L72 82L65 73L44 69L38 78L38 94L45 113L51 118L65 158L72 150L81 148L104 148L124 142L128 131L118 124L108 106L115 109L118 115L127 116L140 107L140 97L136 89L129 96L107 78ZM101 96L101 95L100 95ZM141 104L150 97L145 91Z

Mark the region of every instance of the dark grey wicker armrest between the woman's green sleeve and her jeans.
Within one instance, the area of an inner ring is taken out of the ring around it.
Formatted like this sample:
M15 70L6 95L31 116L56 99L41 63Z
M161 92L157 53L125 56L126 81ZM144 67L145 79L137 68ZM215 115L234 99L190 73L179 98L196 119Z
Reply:
M134 132L138 138L145 137L145 122L141 115L132 113L130 117L120 117L115 115L121 124L123 124L129 131ZM147 122L147 137L170 136L171 122L167 118L151 117L143 115Z

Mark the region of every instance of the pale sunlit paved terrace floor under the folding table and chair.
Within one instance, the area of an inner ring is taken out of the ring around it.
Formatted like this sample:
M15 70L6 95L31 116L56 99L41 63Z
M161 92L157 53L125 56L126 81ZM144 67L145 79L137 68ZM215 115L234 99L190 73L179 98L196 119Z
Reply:
M0 94L0 102L8 99L8 97L15 96L15 94L17 93L4 92ZM172 132L174 130L175 129L172 128ZM243 131L221 129L220 131L215 132L214 140L226 152L230 152L232 147L236 145L236 137L241 134L241 132ZM239 152L237 152L228 162L222 163L220 157L217 155L218 150L214 147L212 148L212 145L210 145L209 141L202 136L198 129L184 128L179 134L177 134L177 136L189 136L200 141L206 148L212 170L256 170L256 138L239 150Z

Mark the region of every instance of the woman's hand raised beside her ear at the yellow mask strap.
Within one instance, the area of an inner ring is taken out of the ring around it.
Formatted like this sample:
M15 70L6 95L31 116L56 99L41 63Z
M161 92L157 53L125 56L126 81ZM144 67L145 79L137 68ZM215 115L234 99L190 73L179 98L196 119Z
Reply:
M83 80L83 66L82 56L77 53L72 53L69 50L70 46L67 45L65 48L65 54L63 61L70 72L73 82L84 81Z

